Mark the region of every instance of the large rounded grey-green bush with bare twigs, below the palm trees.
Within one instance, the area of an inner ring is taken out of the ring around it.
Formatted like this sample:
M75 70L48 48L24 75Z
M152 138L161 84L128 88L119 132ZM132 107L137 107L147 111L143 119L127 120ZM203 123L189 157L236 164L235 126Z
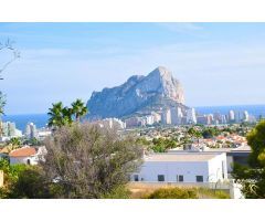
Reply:
M141 164L134 138L97 125L62 127L45 146L42 168L47 182L55 180L62 190L57 198L103 198L125 186Z

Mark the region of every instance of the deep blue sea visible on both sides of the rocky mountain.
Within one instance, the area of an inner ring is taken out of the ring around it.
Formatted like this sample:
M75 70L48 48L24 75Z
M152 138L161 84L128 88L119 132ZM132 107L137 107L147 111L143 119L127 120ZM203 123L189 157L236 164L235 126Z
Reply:
M203 106L194 107L199 114L227 114L231 109L235 112L247 110L248 114L254 115L256 118L265 117L265 105L237 105L237 106ZM24 131L28 123L33 123L38 128L45 127L47 124L47 114L23 114L23 115L6 115L2 116L3 122L13 122L15 127Z

